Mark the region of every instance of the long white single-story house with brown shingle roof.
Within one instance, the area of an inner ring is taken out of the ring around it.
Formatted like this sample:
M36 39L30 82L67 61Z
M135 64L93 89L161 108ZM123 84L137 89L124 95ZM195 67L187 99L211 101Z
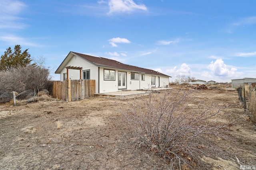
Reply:
M95 80L96 93L166 88L171 77L158 71L72 51L62 61L55 74L60 74L60 81Z

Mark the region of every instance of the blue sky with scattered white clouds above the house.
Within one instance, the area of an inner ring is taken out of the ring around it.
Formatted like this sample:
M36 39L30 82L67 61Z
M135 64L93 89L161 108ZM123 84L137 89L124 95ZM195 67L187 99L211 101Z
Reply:
M1 0L0 55L21 45L54 74L70 51L169 76L256 78L256 0Z

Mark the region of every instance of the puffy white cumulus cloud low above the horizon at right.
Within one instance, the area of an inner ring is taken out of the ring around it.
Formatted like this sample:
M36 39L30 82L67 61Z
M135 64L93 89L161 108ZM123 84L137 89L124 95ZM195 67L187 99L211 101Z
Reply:
M215 76L237 77L239 74L242 74L241 72L237 72L236 68L230 68L224 64L222 59L217 59L215 62L212 61L207 68L211 70Z

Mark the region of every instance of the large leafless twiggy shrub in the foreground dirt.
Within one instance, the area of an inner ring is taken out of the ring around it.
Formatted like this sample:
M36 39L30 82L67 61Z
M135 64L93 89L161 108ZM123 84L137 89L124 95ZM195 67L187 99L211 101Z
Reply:
M214 149L207 137L220 137L226 124L218 122L218 115L228 106L212 103L186 108L188 92L166 90L134 99L131 109L122 110L134 135L134 143L170 161L171 168L194 168L200 161L198 152ZM215 149L214 149L215 151Z

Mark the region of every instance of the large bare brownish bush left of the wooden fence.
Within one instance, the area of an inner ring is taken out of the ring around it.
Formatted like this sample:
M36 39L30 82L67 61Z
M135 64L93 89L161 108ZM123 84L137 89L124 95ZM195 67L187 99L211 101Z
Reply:
M42 66L29 65L0 72L0 101L10 100L10 92L40 91L50 80L50 71Z

